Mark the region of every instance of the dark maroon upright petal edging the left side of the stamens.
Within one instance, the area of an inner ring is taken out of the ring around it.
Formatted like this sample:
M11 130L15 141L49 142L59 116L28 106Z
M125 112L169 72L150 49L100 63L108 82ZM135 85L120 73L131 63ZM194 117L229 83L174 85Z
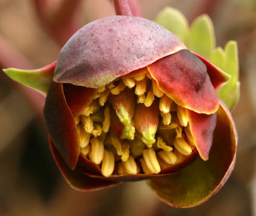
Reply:
M62 84L52 82L43 114L55 148L67 166L75 169L80 154L78 133L72 112L67 106Z

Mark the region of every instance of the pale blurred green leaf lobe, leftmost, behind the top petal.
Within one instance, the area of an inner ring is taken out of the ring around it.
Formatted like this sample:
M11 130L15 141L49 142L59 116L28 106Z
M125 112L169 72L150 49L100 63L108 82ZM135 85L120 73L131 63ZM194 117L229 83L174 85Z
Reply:
M156 17L155 22L171 31L184 44L187 43L189 24L186 17L178 10L165 7Z

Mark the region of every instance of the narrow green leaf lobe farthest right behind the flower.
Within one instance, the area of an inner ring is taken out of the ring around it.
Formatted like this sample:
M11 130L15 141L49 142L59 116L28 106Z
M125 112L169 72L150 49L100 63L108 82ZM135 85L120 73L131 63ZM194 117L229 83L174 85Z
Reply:
M239 58L236 41L228 41L226 44L222 69L231 75L231 79L217 91L217 95L232 110L240 97Z

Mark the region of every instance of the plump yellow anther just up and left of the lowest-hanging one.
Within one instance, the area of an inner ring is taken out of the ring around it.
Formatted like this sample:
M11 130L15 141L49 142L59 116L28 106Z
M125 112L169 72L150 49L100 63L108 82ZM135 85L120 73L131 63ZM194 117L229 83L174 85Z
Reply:
M92 160L93 163L95 164L100 164L104 155L104 145L97 138L92 138L90 140L90 143L91 143L91 151L89 154L90 160Z

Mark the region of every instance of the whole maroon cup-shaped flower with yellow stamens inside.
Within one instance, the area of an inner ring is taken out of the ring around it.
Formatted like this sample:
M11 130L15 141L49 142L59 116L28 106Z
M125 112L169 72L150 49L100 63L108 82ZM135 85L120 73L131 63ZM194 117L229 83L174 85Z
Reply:
M170 205L204 202L236 158L236 127L216 96L227 80L157 23L89 23L61 49L46 97L61 173L78 190L149 179Z

